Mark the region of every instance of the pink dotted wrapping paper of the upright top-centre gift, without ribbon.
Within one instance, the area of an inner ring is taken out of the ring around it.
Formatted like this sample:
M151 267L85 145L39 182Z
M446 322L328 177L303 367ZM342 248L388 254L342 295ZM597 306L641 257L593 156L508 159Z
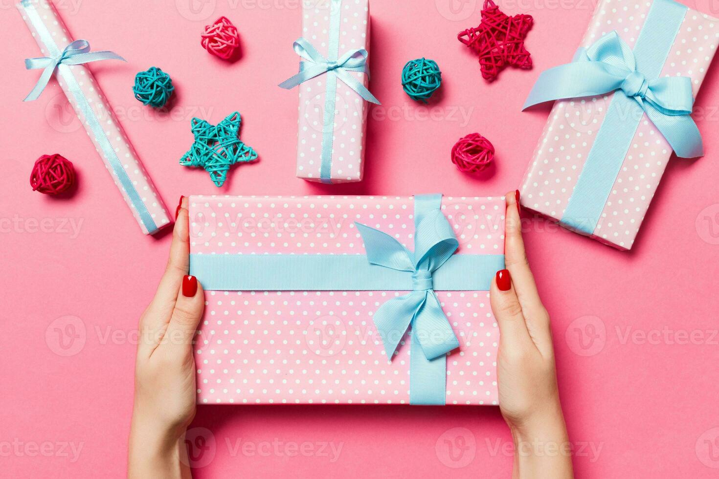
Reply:
M302 37L327 57L329 50L330 9L334 1L306 1L302 9ZM370 6L367 0L339 2L339 55L347 50L370 46ZM360 83L369 84L369 75L348 72ZM297 172L299 178L321 181L322 127L324 121L326 82L328 75L319 75L299 85L299 125ZM365 159L367 102L342 81L337 81L335 117L332 134L332 183L362 180Z

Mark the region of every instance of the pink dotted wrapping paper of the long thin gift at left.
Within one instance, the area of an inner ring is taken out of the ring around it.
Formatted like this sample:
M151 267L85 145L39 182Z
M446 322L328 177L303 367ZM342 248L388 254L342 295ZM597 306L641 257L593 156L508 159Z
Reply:
M63 19L49 1L24 0L17 4L17 8L43 56L55 57L73 42ZM93 141L125 203L132 210L132 215L142 228L142 232L155 233L170 224L168 210L91 71L85 65L61 64L58 65L54 76ZM91 115L86 116L81 105L88 106ZM93 126L96 126L99 134L93 132ZM104 149L111 154L105 154Z

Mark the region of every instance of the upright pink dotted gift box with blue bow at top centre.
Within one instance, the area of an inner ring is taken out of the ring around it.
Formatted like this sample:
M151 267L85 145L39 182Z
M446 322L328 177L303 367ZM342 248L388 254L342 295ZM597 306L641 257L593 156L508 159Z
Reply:
M300 72L280 84L300 90L297 177L362 180L367 101L379 103L367 90L369 45L367 0L303 1Z

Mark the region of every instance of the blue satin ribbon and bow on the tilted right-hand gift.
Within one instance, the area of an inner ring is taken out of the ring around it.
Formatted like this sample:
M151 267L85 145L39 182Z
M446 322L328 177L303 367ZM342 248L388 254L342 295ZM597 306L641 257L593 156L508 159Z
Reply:
M672 0L654 0L634 50L610 32L587 49L580 48L574 62L541 73L533 86L523 108L615 92L562 225L594 233L644 113L678 157L703 154L702 137L690 116L691 78L659 78L686 11L686 6Z

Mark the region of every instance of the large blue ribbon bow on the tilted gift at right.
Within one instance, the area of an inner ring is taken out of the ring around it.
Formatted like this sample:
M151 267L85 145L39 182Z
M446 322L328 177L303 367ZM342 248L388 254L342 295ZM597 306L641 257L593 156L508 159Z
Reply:
M691 78L645 78L637 71L633 51L617 32L606 34L587 49L580 48L574 62L542 72L523 109L614 90L641 106L678 157L702 156L702 136L690 116L694 104Z

